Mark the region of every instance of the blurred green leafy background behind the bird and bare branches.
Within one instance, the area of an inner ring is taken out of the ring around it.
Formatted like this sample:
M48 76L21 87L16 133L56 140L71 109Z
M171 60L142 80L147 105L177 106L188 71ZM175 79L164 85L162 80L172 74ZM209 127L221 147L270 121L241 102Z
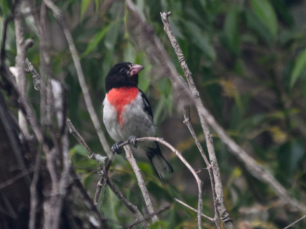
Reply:
M135 3L181 71L163 31L159 14L172 12L171 27L183 49L204 104L238 144L268 169L292 196L305 202L305 1L138 0ZM3 22L10 14L11 4L10 1L0 1L1 37ZM141 64L145 69L140 73L139 87L151 102L157 135L181 151L195 169L205 168L183 124L184 118L171 82L165 75L157 74L158 70L151 64L151 57L139 49L127 29L129 11L125 2L60 0L56 4L66 13L101 123L104 78L109 69L121 61ZM51 12L48 17L53 76L65 82L69 89L68 117L91 149L105 155L84 105L61 28ZM39 44L31 17L26 17L24 23L25 36L34 37L35 40L28 52L28 59L39 69ZM16 55L13 22L8 27L6 52L11 59L10 65L13 65ZM32 86L30 74L28 95L38 114L39 94ZM194 107L190 107L190 116L204 147L205 138ZM110 145L114 143L109 137L108 140ZM244 220L248 220L255 228L282 228L300 218L300 212L285 206L267 185L250 176L216 135L214 142L226 208L236 227L245 228L248 224ZM70 144L74 169L93 197L99 180L96 174L99 165L88 159L86 150L73 137L70 138ZM159 216L158 224L163 228L196 227L196 213L173 200L181 199L196 208L195 180L173 153L164 147L162 150L175 171L166 180L159 180L147 158L135 153L155 209L171 205L169 210ZM110 176L125 197L144 211L135 175L123 155L115 156ZM199 176L205 191L203 213L213 216L207 172L204 170ZM108 188L102 211L107 218L121 224L129 224L134 219ZM205 227L214 228L210 222L203 221ZM120 228L117 224L110 224ZM305 220L296 226L305 227Z

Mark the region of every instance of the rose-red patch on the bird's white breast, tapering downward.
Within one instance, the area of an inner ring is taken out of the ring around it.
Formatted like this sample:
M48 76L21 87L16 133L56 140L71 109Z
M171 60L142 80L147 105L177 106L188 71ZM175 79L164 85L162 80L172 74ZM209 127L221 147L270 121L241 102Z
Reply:
M113 88L106 94L108 102L117 111L117 118L121 127L124 124L122 112L126 108L125 105L131 104L136 99L138 93L139 90L136 87L121 87Z

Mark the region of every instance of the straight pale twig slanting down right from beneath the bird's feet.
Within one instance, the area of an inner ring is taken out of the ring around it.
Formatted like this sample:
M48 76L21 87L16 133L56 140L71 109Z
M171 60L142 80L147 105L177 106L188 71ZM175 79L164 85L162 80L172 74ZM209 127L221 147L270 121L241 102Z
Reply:
M152 204L152 201L151 201L151 198L150 198L150 194L147 190L146 185L144 184L144 179L141 176L140 169L139 169L139 167L136 163L135 158L133 157L132 151L129 148L129 146L127 144L122 145L122 146L124 147L124 150L125 150L125 157L126 157L126 159L128 159L128 161L131 164L132 169L133 169L133 171L136 175L136 178L137 178L137 181L138 181L138 186L140 187L141 193L144 197L144 202L146 203L147 210L148 210L149 214L151 215L151 220L152 220L152 223L154 224L158 220L158 217L154 213L154 208L153 208L153 204Z

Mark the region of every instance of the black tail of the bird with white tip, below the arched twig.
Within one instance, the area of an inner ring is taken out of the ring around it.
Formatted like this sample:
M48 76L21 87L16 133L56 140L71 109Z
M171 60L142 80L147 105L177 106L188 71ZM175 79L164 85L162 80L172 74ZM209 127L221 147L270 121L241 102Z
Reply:
M165 177L165 173L173 173L172 166L166 161L166 159L162 155L162 152L160 151L157 142L156 148L148 148L146 154L160 179Z

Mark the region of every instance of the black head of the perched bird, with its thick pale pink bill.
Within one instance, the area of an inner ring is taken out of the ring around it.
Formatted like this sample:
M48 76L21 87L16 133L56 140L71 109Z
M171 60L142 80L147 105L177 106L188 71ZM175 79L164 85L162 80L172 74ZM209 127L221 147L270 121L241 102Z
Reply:
M105 78L106 92L119 87L137 87L138 73L143 69L141 65L129 62L115 64Z

